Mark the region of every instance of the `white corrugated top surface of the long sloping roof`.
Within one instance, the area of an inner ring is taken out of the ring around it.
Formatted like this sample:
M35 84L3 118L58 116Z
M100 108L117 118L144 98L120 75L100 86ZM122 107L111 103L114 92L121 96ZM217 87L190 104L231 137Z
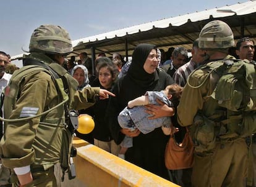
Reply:
M248 1L242 4L234 4L232 6L224 6L210 10L203 10L201 12L194 12L192 14L180 15L177 17L166 18L155 22L144 23L141 25L130 26L121 30L115 30L108 33L98 34L87 38L77 39L72 41L73 46L86 44L88 42L103 41L105 39L120 38L130 34L149 31L153 28L168 28L169 26L181 26L188 22L199 22L213 18L223 18L233 15L252 14L256 8L256 1Z

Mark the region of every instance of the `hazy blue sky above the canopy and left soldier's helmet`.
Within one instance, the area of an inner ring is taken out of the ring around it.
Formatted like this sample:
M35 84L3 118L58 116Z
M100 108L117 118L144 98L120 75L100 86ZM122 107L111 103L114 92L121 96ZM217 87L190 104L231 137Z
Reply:
M33 30L65 28L72 40L248 0L2 0L0 50L28 51ZM23 49L23 50L22 50Z

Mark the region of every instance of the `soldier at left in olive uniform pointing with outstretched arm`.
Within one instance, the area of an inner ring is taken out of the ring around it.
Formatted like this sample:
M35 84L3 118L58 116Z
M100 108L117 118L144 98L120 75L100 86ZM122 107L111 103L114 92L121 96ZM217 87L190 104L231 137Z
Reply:
M67 156L72 143L66 106L88 108L97 95L113 94L99 87L76 91L77 81L61 66L73 48L69 34L60 26L36 28L29 49L23 68L14 72L5 90L4 117L9 121L5 121L0 142L1 160L12 170L14 186L56 186L53 166Z

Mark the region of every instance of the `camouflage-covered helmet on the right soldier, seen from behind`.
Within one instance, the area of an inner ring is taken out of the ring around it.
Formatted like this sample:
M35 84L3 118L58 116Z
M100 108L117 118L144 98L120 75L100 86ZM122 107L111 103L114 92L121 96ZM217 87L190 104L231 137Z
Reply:
M227 23L214 20L203 26L198 46L200 49L227 49L234 46L234 35Z

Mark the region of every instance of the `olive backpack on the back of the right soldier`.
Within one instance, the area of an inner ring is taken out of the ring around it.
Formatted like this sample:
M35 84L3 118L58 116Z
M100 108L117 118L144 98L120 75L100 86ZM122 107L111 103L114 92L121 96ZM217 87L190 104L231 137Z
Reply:
M248 60L224 59L218 62L211 62L201 68L208 69L208 76L211 73L218 74L216 87L211 97L218 101L218 105L227 110L227 120L243 119L239 135L247 137L256 132L256 125L247 124L247 116L252 116L256 111L256 72L254 63ZM206 78L207 79L207 78ZM202 84L204 81L202 82ZM200 84L200 86L202 86ZM200 87L197 86L197 87ZM254 127L255 126L255 127Z

